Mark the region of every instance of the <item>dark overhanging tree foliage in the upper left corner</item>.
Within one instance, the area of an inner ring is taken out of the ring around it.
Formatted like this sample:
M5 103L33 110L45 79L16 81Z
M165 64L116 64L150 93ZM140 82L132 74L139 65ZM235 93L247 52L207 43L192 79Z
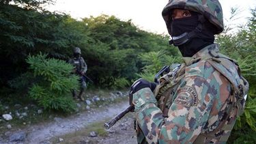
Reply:
M67 59L72 53L70 47L86 39L83 29L70 16L0 5L0 61L4 68L0 70L0 85L27 72L29 53L43 51L49 57Z

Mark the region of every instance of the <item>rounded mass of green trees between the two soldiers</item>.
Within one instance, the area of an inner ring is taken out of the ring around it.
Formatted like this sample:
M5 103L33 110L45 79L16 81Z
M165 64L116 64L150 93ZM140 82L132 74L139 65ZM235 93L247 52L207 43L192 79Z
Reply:
M142 53L176 52L169 48L166 36L141 31L130 20L124 22L115 16L102 15L84 18L83 22L88 26L91 38L85 48L85 57L91 65L88 73L91 72L91 77L102 87L115 87L116 78L128 81L137 78L134 73L141 72L145 65L137 59Z

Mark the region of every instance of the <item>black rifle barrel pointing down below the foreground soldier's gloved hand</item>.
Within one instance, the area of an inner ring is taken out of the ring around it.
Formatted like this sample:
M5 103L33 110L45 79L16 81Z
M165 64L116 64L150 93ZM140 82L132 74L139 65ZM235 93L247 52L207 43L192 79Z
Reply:
M130 111L132 111L132 109L134 109L133 105L128 106L124 111L122 111L121 113L119 113L117 116L113 117L112 119L110 119L109 121L107 121L104 124L104 127L106 129L111 128L117 121L119 121L119 119L122 119L122 117L124 117L124 115L126 115L126 113L129 113Z

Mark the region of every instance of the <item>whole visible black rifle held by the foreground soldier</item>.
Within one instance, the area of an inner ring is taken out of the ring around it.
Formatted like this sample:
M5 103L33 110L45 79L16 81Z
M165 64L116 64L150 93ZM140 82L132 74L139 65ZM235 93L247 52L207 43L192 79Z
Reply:
M176 74L177 70L180 68L180 65L177 66L177 68L175 68L173 70L173 75ZM162 69L156 73L156 75L154 76L154 82L155 83L159 83L158 82L158 77L162 76L163 74L167 74L170 72L170 66L164 66L162 67ZM132 94L132 91L129 92L129 96ZM121 113L119 113L118 115L116 115L115 117L113 117L112 119L110 119L109 121L107 121L104 124L104 127L106 129L111 128L117 121L119 121L119 119L122 119L122 117L124 117L124 115L126 115L126 113L129 113L130 111L134 110L134 106L130 105L128 106L124 111L122 111Z

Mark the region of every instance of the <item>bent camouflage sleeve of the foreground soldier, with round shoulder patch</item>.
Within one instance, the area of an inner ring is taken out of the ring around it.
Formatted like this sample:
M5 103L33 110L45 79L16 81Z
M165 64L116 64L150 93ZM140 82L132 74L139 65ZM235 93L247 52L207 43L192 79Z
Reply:
M153 100L149 89L134 93L136 119L148 143L193 143L208 120L214 89L201 76L186 77L175 93L168 117ZM146 99L145 99L146 98Z

